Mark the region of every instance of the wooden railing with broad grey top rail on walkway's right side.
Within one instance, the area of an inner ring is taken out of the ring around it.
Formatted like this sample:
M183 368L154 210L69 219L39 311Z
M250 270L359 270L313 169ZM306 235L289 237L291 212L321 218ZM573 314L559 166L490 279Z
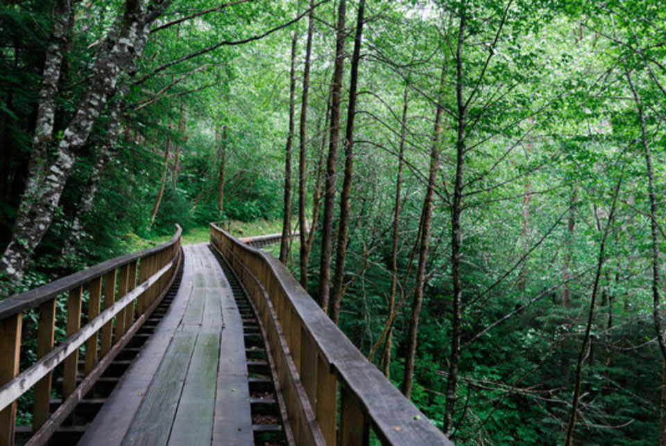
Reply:
M384 445L452 445L276 258L215 224L210 240L257 309L298 445L367 445L370 429Z

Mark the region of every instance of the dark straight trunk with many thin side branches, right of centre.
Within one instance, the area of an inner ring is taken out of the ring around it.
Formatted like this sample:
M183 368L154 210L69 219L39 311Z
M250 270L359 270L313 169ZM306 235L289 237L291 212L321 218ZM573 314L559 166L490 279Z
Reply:
M461 305L463 299L463 283L461 273L461 244L463 229L460 217L463 212L463 171L465 168L467 109L463 99L463 60L462 46L465 33L466 11L462 7L456 52L456 102L458 105L458 135L456 138L456 182L453 190L451 206L451 269L453 281L453 305L451 315L451 356L449 374L446 380L446 403L444 409L444 433L450 436L453 430L453 413L456 404L456 387L458 385L458 366L460 362L461 340Z

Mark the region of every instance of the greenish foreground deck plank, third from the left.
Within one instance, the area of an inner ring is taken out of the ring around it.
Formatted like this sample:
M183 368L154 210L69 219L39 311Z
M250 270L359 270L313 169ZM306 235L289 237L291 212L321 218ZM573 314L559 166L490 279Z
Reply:
M210 445L215 408L212 389L216 386L219 351L219 332L199 333L171 427L169 445Z

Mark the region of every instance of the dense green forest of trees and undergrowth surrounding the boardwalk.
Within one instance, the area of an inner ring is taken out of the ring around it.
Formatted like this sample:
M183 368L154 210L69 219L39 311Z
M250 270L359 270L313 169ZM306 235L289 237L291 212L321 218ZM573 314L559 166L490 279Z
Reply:
M457 445L666 445L662 0L7 0L0 145L2 297L274 220Z

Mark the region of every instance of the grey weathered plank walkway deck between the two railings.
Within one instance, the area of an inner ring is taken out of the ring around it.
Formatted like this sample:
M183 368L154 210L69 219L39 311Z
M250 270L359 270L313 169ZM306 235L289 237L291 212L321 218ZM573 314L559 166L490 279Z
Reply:
M244 332L205 243L183 247L176 298L79 445L252 445Z

